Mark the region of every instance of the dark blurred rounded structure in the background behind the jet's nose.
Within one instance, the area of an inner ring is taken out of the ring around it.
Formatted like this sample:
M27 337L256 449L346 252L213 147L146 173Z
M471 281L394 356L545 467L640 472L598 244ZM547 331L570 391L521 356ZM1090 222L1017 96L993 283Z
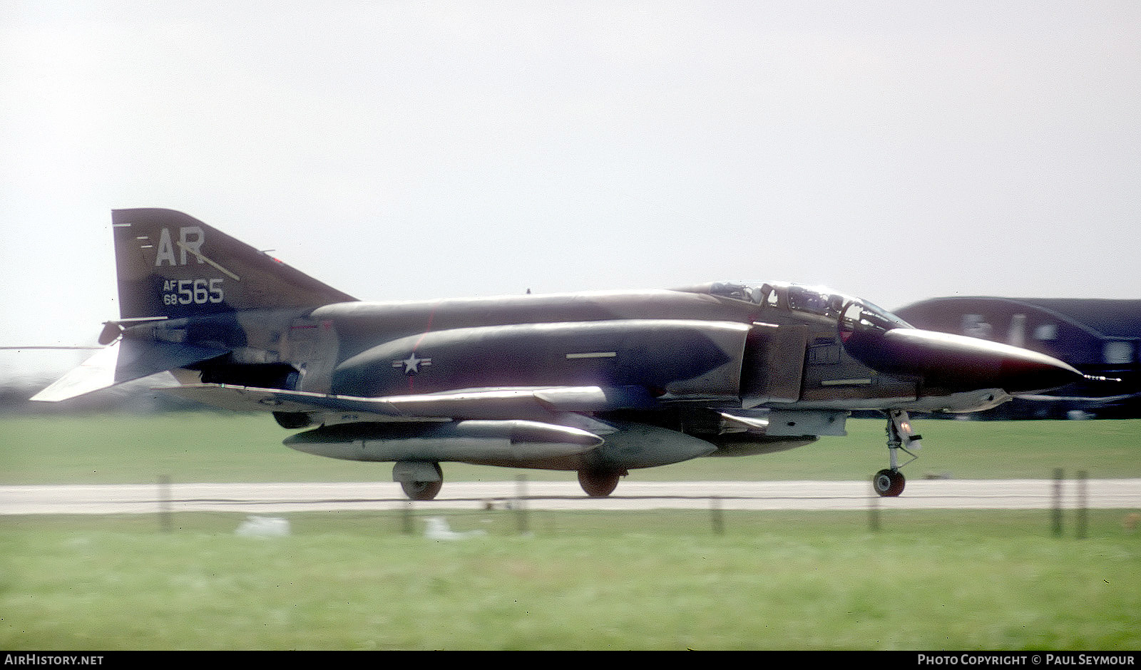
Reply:
M1141 417L1141 300L936 297L896 314L919 328L1031 349L1114 379L1021 394L984 416Z

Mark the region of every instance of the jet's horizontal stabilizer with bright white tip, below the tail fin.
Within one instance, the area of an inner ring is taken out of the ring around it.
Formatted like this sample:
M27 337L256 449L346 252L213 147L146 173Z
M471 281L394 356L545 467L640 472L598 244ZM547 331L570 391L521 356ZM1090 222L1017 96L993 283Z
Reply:
M148 340L119 340L99 350L80 367L32 397L59 402L92 391L132 382L227 353L225 349L189 346Z

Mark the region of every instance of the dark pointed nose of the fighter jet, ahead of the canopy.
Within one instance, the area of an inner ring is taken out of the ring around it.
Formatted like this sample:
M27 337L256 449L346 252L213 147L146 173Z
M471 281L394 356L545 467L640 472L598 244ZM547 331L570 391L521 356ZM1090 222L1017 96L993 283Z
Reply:
M1068 363L1044 353L917 328L857 333L845 346L873 369L919 376L924 386L950 391L1029 393L1084 378Z

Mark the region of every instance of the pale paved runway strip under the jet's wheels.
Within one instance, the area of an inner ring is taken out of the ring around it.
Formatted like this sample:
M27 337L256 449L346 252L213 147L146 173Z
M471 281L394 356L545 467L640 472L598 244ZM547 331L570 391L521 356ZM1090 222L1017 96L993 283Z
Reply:
M1141 479L919 480L899 498L871 482L637 482L609 498L588 498L576 482L444 482L430 502L410 502L398 484L276 483L0 487L0 514L122 514L226 510L284 513L347 509L476 509L525 498L529 509L1141 509Z

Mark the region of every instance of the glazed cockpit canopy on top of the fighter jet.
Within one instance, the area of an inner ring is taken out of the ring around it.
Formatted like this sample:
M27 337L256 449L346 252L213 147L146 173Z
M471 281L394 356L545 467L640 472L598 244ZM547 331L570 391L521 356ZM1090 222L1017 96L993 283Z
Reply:
M881 330L912 327L888 310L823 286L787 281L718 281L710 285L709 292L782 311L827 317L849 329L868 326Z

